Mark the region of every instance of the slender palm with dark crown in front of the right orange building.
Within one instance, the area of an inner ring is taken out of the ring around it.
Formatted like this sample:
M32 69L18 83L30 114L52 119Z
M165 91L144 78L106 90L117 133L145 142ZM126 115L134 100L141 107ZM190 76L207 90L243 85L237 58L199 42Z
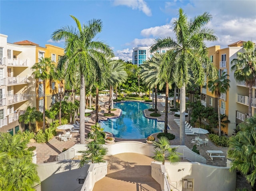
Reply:
M220 96L222 93L227 93L230 88L230 79L228 79L229 75L226 72L223 72L222 75L215 79L208 81L208 87L212 89L212 94L217 96L218 102L218 121L219 121L219 136L221 136L221 114L220 114Z

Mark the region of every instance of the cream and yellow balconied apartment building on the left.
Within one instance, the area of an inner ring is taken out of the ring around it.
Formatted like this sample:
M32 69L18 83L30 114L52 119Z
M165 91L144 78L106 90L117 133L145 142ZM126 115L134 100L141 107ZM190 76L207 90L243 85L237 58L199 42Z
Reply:
M64 49L52 45L40 47L30 41L8 43L7 35L0 34L0 132L15 134L25 130L18 122L27 106L42 111L42 82L32 76L31 67L39 57L51 57L57 63ZM58 93L64 92L60 82L46 83L46 108L58 99ZM39 130L40 124L36 130Z

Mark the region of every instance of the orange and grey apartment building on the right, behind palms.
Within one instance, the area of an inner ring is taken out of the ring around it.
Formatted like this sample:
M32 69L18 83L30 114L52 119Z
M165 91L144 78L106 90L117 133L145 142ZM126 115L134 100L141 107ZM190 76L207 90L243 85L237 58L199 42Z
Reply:
M215 64L219 71L219 75L226 72L230 79L230 89L225 94L222 93L220 97L220 105L217 103L217 97L211 93L205 83L205 86L201 88L201 103L205 107L213 107L217 112L217 108L220 108L220 114L226 114L229 124L226 127L222 127L224 134L231 136L234 134L236 125L244 121L248 113L248 94L249 88L244 83L237 83L234 79L234 71L231 71L231 61L236 58L238 51L242 51L242 45L244 41L238 41L228 45L227 48L220 49L220 46L212 46L208 48L209 57L212 63ZM254 89L254 97L256 98L256 92ZM246 102L247 101L247 102ZM256 100L255 100L256 103ZM253 106L254 107L254 106ZM253 109L256 112L256 104Z

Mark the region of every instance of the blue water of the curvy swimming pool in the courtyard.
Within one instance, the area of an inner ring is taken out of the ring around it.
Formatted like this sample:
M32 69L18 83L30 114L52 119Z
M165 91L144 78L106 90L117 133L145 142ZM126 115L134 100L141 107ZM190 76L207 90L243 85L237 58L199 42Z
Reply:
M101 122L104 131L111 132L115 137L142 139L164 129L164 122L143 115L144 109L151 108L150 104L129 101L116 103L114 107L122 110L122 116Z

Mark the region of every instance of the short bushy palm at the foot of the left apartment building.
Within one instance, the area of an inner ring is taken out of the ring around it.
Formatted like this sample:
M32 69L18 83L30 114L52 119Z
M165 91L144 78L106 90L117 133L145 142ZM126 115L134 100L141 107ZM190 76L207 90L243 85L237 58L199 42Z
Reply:
M43 120L42 112L37 111L35 107L28 106L23 115L19 117L19 122L28 124L28 129L32 131L31 122L40 122Z

